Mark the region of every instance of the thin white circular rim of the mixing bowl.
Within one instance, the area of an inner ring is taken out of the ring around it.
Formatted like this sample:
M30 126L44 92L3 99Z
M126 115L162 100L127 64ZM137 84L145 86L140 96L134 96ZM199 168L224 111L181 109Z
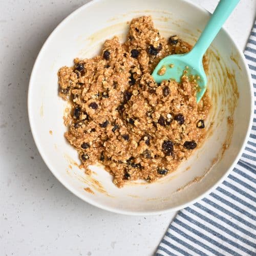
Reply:
M50 33L50 35L48 36L48 38L46 39L46 41L44 42L44 45L42 45L37 57L36 57L36 60L34 62L34 65L33 65L33 69L32 69L32 72L31 72L31 75L30 75L30 80L29 80L29 87L28 87L28 117L29 117L29 124L30 124L30 128L31 128L31 133L32 133L32 136L33 136L33 139L35 141L35 144L36 144L36 147L37 147L37 150L39 152L39 154L41 155L42 159L44 160L46 166L51 170L52 174L55 176L55 178L63 185L65 186L69 191L71 191L75 196L77 196L78 198L80 198L81 200L93 205L93 206L96 206L100 209L103 209L103 210L107 210L107 211L111 211L111 212L115 212L116 214L123 214L123 215L130 215L130 216L153 216L153 215L160 215L160 214L166 214L168 212L174 212L174 211L178 211L180 209L183 209L189 205L192 205L198 201L200 201L202 198L206 197L207 195L209 195L211 193L211 191L213 191L215 188L217 188L219 186L219 184L221 184L224 179L230 174L231 170L234 168L234 166L237 164L237 162L239 161L240 157L242 156L242 153L244 151L244 148L245 148L245 145L248 141L248 138L249 138L249 134L251 132L251 126L252 126L252 117L253 117L253 91L252 91L252 87L251 87L251 84L252 84L252 79L251 79L251 74L250 74L250 71L249 71L249 67L247 65L247 62L246 62L246 58L243 54L243 52L239 49L236 41L234 41L232 39L232 37L230 36L230 34L228 33L228 31L222 27L222 31L226 34L226 36L233 42L234 44L234 48L236 49L237 53L239 54L239 57L241 57L241 59L243 60L243 64L245 64L245 71L246 71L246 75L248 77L248 80L249 80L249 83L250 83L250 120L248 122L248 125L247 125L247 132L246 132L246 136L244 138L244 141L243 141L243 144L240 148L240 151L238 152L236 158L234 159L233 163L231 164L231 166L229 167L229 169L226 170L225 174L215 183L213 184L209 189L207 189L203 194L201 194L200 196L196 197L195 199L193 200L190 200L189 202L187 203L184 203L184 204L181 204L179 206L176 206L176 207L172 207L172 208L168 208L168 209L163 209L163 210L155 210L155 209L152 209L152 210L140 210L140 211L134 211L134 210L124 210L124 209L118 209L118 208L115 208L115 207L112 207L112 206L105 206L105 205L101 205L100 203L97 203L97 201L93 200L93 199L90 199L90 198L83 198L82 196L80 196L76 191L75 189L73 188L72 185L70 185L69 182L65 181L65 179L62 179L61 176L58 174L56 168L54 168L53 166L51 166L51 164L48 162L47 160L47 156L44 154L44 151L42 150L42 147L35 135L35 127L34 127L34 122L33 122L33 119L32 119L32 108L31 108L31 97L32 97L32 83L33 83L33 76L34 76L34 73L35 73L35 70L36 70L36 67L38 65L38 62L40 60L40 57L41 55L44 53L46 47L48 46L49 44L49 41L50 39L53 37L54 33L61 27L65 26L65 24L73 17L75 16L78 12L81 12L83 11L84 9L88 8L90 5L94 5L95 3L97 2L101 2L102 0L92 0L91 2L89 3L86 3L84 5L82 5L81 7L79 7L78 9L76 9L75 11L73 11L71 14L69 14L66 18L64 18L58 25L57 27L55 27L55 29ZM207 11L206 9L204 9L203 7L200 7L194 3L191 3L189 2L188 0L180 0L180 2L183 2L183 3L186 3L190 6L193 6L197 9L199 9L200 11L203 11L204 13L207 13L208 15L211 15L211 13L209 11Z

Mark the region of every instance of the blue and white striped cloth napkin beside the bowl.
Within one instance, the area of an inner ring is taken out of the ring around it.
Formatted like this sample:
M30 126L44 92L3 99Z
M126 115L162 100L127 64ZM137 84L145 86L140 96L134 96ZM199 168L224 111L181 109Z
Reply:
M256 21L244 55L256 106ZM181 210L156 255L256 255L256 107L245 151L209 196Z

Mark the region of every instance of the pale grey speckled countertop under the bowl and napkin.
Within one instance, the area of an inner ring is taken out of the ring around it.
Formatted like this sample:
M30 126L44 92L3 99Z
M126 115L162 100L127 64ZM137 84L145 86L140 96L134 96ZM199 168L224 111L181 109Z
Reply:
M91 206L42 161L27 116L35 58L51 31L89 1L0 0L0 254L153 255L175 216L130 217ZM194 0L213 11L218 0ZM225 27L243 50L256 0L243 0Z

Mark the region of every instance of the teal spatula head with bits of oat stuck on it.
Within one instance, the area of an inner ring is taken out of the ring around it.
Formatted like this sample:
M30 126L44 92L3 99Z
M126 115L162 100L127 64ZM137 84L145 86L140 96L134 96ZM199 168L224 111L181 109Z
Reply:
M184 73L185 70L185 73ZM152 73L155 81L160 83L163 80L175 79L180 82L182 75L196 79L199 90L197 92L197 102L200 101L206 90L207 78L203 69L202 60L194 59L192 55L177 54L163 58Z

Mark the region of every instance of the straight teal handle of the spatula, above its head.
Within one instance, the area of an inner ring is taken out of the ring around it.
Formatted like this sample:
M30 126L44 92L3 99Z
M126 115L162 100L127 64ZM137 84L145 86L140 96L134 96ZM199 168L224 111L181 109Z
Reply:
M212 13L209 22L204 28L191 54L202 58L211 42L214 40L226 19L229 17L233 9L237 6L239 0L221 0Z

